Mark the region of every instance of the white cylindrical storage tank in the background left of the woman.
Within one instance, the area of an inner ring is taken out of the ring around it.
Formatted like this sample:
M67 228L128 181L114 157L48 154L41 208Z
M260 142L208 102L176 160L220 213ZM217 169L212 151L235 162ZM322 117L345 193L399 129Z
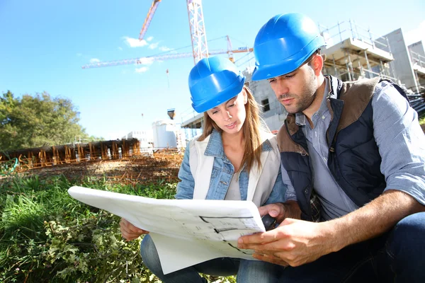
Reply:
M177 147L176 121L158 120L152 123L154 134L154 149Z

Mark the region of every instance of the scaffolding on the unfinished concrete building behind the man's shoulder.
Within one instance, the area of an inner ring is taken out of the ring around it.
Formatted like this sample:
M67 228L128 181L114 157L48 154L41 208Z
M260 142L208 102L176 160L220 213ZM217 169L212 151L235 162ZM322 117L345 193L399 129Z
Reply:
M338 22L331 28L319 25L319 30L327 42L322 50L327 57L324 74L342 81L380 76L399 82L389 64L394 57L387 37L375 36L352 20Z

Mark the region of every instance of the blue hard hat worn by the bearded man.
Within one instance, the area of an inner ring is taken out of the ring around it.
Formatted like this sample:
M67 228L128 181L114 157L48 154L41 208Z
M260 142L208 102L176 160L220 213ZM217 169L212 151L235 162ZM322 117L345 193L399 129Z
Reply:
M256 35L252 79L271 79L295 71L324 45L324 38L311 18L301 13L274 16Z

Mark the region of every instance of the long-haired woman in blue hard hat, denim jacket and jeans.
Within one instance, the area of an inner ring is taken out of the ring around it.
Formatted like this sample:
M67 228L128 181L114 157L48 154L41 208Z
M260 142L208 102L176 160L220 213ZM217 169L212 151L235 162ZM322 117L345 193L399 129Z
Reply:
M276 137L261 129L259 106L245 77L228 59L200 60L189 75L192 106L204 112L203 134L187 146L176 199L251 200L257 207L283 202ZM148 233L122 219L121 233L132 240ZM163 282L205 282L208 275L237 274L238 282L273 282L276 265L217 258L164 275L152 238L140 246L143 262Z

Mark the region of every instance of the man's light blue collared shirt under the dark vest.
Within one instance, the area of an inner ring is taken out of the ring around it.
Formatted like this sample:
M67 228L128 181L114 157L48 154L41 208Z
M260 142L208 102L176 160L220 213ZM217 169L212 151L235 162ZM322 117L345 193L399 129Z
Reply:
M334 180L327 166L326 132L331 121L327 108L329 81L325 79L325 95L310 127L302 113L295 122L307 139L314 168L314 190L322 202L322 218L334 219L358 209ZM416 111L386 81L378 83L372 98L373 132L382 158L380 170L385 175L385 190L401 190L425 204L425 135L419 126ZM296 200L288 173L282 168L283 183L288 186L286 200Z

